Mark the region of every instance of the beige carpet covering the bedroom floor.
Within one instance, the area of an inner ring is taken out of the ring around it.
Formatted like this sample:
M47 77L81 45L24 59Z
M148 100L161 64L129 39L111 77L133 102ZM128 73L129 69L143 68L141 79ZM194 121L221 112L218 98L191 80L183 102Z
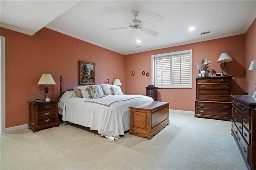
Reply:
M247 170L230 122L170 111L170 125L151 140L125 133L110 142L70 123L0 135L0 168Z

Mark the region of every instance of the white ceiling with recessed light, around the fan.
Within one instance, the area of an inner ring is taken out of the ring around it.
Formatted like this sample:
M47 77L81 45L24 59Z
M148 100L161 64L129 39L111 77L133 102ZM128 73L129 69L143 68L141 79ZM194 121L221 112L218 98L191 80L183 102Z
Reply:
M242 1L68 1L1 0L1 27L33 35L43 27L127 55L163 47L244 34L256 18L256 0ZM150 36L138 31L128 40L132 28L120 12L142 22L160 15L162 21L145 26L159 32ZM190 32L188 28L194 26ZM201 35L201 32L210 34ZM141 46L136 48L136 46Z

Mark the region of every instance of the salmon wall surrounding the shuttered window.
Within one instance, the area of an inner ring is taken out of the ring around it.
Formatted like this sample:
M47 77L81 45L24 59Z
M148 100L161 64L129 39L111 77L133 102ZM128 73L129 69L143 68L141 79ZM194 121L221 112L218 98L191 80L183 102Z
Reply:
M217 63L220 54L228 53L233 61L227 62L229 75L233 75L232 93L245 94L245 34L216 40L180 45L164 49L146 51L125 56L126 94L146 95L146 88L151 85L151 55L192 49L192 89L158 89L158 101L170 102L170 109L194 111L196 100L196 79L198 70L194 63L201 64L201 59L208 59L213 73L221 73L223 63ZM135 75L131 76L131 71ZM142 71L150 73L149 77Z

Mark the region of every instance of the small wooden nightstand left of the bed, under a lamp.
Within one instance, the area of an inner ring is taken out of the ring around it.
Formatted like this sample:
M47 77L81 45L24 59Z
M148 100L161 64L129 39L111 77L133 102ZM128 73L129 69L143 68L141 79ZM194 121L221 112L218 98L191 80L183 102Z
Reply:
M58 127L58 102L28 102L29 124L28 128L33 132L49 127Z

